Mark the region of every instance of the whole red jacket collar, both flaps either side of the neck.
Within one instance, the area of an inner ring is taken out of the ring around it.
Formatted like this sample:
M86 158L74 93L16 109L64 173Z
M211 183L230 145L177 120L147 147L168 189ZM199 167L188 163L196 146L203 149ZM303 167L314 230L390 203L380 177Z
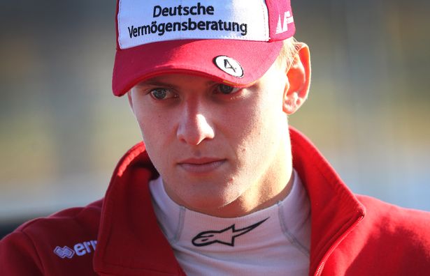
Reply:
M364 206L311 142L289 128L293 167L311 205L310 272L317 274ZM103 201L94 270L101 275L184 275L159 229L148 183L157 178L143 143L117 164ZM311 274L311 273L310 273Z

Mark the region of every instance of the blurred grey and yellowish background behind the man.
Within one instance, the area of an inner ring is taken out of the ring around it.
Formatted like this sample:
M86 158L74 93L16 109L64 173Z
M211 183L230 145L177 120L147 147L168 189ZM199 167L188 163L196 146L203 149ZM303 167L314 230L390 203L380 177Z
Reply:
M292 0L310 45L290 118L354 192L430 210L430 1ZM110 89L115 1L0 2L0 237L103 197L140 140Z

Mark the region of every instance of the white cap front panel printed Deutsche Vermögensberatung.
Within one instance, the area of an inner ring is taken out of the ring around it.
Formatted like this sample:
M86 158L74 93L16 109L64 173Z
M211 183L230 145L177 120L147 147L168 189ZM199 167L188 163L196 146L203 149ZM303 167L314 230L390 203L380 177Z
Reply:
M192 38L269 39L264 0L120 0L117 23L121 49Z

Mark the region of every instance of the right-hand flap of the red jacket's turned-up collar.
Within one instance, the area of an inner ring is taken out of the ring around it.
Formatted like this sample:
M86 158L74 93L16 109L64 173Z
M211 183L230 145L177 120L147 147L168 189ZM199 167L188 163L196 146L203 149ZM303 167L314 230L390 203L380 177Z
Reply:
M309 271L317 275L334 248L364 217L366 209L306 137L291 127L289 133L293 167L310 199Z

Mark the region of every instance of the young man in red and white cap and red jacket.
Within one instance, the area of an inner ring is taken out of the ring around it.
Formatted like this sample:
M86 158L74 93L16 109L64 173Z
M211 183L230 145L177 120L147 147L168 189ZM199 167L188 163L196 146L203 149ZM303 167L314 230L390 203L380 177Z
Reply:
M106 197L1 240L1 275L427 275L430 216L347 189L287 116L309 49L289 1L117 8L113 93L143 143Z

